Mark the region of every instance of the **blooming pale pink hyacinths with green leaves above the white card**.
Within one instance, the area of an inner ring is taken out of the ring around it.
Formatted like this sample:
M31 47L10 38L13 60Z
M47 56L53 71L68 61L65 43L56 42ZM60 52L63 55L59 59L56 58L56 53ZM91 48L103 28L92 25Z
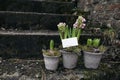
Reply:
M61 40L72 37L77 37L77 39L79 40L81 29L85 27L85 21L85 18L83 18L82 16L78 16L72 28L69 28L66 23L60 22L57 26Z

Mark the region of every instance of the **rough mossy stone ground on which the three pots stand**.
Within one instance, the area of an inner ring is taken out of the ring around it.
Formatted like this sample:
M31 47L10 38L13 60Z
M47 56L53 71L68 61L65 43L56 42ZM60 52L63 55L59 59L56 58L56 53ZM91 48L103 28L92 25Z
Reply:
M0 64L1 80L119 80L119 63L101 63L96 70L86 69L81 59L75 69L63 68L60 62L57 71L48 71L43 60L8 59Z

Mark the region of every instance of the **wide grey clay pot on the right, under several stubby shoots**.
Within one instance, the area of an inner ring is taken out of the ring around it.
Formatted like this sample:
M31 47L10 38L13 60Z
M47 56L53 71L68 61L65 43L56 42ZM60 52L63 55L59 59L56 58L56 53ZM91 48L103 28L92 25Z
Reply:
M86 68L97 69L103 53L84 52L84 65Z

